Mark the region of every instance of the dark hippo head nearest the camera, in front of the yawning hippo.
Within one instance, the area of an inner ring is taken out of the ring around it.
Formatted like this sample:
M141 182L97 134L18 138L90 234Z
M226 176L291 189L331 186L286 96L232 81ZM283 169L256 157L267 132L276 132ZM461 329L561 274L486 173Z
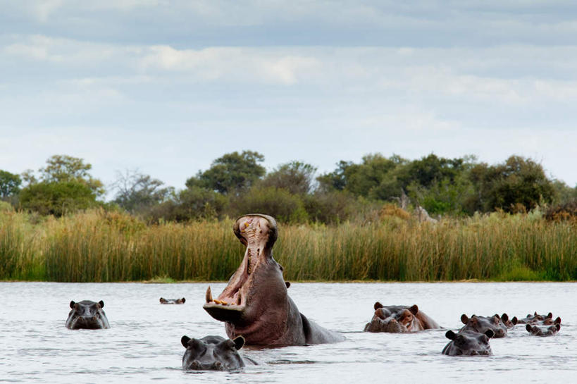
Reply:
M201 339L182 336L180 342L186 348L182 356L183 369L224 371L244 366L238 353L238 349L244 345L242 336L235 340L221 336L205 336Z

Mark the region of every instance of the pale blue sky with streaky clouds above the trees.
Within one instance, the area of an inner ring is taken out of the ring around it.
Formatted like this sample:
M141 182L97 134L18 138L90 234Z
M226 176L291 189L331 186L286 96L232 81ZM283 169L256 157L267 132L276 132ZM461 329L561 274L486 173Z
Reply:
M516 154L577 186L574 1L0 0L0 169Z

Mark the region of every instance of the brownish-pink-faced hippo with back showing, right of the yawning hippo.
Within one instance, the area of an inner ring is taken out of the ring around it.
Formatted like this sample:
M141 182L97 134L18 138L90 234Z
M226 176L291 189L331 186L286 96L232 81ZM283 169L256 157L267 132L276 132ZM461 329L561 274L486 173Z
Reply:
M416 304L383 306L376 302L374 308L375 314L366 324L365 332L408 333L440 328L432 318L419 311Z

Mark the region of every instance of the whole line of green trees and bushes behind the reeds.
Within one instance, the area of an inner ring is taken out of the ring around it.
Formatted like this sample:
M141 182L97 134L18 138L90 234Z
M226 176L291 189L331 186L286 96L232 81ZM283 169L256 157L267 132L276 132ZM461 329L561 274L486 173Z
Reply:
M105 202L106 188L90 174L91 164L54 155L36 172L0 170L0 206L54 216L100 206L149 223L266 212L285 223L327 224L370 221L383 204L401 204L407 197L432 216L577 206L577 186L548 178L540 163L522 156L490 165L476 156L409 160L368 154L359 163L340 161L323 174L302 161L267 172L263 161L256 151L224 154L188 178L182 190L138 171L118 172L108 186L114 199Z

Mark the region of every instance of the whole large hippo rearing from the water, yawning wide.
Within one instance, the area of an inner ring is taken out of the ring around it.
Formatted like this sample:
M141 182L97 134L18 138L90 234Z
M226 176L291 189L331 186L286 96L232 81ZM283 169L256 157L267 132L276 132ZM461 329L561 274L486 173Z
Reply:
M225 322L232 340L242 335L247 345L305 345L340 342L345 337L310 321L287 294L283 266L273 259L278 237L276 221L261 214L240 216L232 227L247 247L237 271L221 295L206 290L203 308Z

